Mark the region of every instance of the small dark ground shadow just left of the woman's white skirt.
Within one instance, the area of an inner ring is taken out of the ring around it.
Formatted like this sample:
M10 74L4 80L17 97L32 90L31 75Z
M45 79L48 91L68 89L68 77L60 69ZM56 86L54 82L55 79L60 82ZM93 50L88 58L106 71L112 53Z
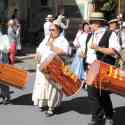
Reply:
M19 96L15 99L12 99L11 104L13 104L13 105L33 105L32 94L29 93L26 95Z

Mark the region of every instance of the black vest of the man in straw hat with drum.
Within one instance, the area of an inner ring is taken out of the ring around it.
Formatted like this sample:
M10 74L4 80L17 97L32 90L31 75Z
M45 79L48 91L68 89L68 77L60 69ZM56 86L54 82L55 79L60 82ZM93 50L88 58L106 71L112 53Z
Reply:
M103 35L103 37L101 38L100 42L99 42L99 47L104 47L104 48L109 48L109 37L111 36L111 31L106 31ZM110 55L106 55L103 54L99 51L96 51L96 56L98 60L101 60L105 63L114 65L115 64L115 58L110 56Z

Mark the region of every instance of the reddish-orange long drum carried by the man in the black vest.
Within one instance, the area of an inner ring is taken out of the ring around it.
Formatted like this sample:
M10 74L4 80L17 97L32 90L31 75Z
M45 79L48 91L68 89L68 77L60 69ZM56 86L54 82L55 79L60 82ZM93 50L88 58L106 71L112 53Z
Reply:
M87 83L100 90L125 95L125 71L99 60L90 65Z

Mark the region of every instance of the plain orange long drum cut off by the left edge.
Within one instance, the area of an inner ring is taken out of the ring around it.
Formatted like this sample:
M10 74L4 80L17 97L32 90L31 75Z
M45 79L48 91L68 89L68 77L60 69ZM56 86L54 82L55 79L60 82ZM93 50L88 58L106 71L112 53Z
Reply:
M24 89L28 82L28 73L9 64L0 64L0 84Z

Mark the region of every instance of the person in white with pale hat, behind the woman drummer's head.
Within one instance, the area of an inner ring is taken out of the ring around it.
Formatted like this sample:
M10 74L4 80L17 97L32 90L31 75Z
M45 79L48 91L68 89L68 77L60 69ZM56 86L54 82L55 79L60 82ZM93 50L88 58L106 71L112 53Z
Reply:
M54 17L52 14L49 14L49 15L47 15L47 17L45 19L46 19L46 22L44 23L44 37L50 35L50 33L51 33L50 27L52 25Z

